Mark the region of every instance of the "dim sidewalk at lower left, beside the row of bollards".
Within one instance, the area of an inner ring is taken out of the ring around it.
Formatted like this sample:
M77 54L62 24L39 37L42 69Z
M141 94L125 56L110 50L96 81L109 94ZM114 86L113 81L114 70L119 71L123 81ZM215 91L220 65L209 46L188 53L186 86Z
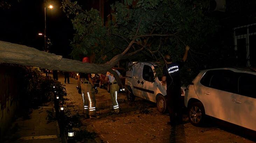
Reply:
M29 119L18 118L12 123L4 143L61 143L53 103L32 110Z

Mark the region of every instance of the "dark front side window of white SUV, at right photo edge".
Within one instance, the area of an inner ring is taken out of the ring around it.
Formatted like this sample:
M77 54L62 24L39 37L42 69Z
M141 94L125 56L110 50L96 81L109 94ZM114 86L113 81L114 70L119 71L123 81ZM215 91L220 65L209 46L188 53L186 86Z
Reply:
M256 98L256 75L241 73L238 77L238 94Z

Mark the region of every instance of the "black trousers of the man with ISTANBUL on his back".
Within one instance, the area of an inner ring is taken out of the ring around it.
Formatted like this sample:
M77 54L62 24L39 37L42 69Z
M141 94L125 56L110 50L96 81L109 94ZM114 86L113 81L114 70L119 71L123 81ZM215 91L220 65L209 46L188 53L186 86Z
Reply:
M169 86L167 93L167 107L171 124L179 124L182 122L182 101L180 86Z

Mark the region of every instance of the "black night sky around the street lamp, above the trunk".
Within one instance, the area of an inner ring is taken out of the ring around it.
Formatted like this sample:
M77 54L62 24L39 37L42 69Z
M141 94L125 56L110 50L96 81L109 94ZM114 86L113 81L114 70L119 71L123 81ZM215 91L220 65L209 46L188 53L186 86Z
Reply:
M51 2L53 9L46 9L46 35L53 44L50 53L70 58L70 40L74 33L71 21L62 11L61 0ZM44 1L21 0L12 3L11 8L0 8L0 40L22 44L43 50Z

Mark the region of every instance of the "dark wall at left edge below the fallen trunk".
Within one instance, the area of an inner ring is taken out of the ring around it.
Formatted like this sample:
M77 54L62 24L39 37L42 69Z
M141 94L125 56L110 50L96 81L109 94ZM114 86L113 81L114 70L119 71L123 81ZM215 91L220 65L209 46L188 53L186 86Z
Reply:
M0 64L0 138L11 126L19 105L19 71L18 67Z

